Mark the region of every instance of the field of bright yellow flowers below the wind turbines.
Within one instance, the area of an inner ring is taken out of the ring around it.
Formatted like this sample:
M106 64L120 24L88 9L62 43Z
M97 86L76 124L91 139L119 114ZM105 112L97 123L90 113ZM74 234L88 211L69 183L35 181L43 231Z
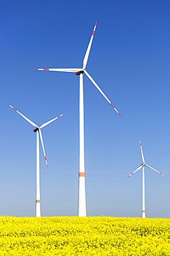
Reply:
M170 219L0 217L1 255L170 255Z

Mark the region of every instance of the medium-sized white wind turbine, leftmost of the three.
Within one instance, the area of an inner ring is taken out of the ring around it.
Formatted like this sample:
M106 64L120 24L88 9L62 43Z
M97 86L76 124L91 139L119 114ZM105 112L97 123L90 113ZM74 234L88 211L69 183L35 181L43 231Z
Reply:
M10 107L12 107L10 104L8 104L8 105ZM12 107L12 109L14 109L14 107ZM14 110L17 111L17 109L14 109ZM44 145L43 145L43 136L41 134L41 128L45 127L46 125L49 125L50 122L53 122L57 118L63 116L64 113L62 115L57 116L56 118L48 121L48 122L45 122L45 124L41 125L41 127L39 127L38 125L34 124L34 122L32 122L31 120L29 120L28 118L23 116L23 114L20 113L19 111L17 111L17 113L19 113L19 115L21 115L23 118L25 118L25 120L30 122L31 125L36 127L36 129L33 130L34 132L36 132L36 210L35 210L35 216L36 217L41 217L41 208L40 208L40 179L39 179L39 136L41 138L41 145L43 147L43 154L44 154L44 157L45 157L45 163L47 165L47 158L45 156L45 149L44 149Z

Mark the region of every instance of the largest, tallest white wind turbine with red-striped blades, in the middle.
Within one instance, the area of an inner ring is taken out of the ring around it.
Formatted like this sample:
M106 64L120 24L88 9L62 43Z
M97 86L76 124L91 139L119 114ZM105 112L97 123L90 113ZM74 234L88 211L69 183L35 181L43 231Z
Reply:
M97 22L96 22L97 25ZM105 93L99 88L99 86L94 82L93 78L87 73L85 67L87 65L87 60L89 57L89 51L92 46L92 41L94 38L94 32L96 30L96 25L92 33L92 37L89 41L87 51L83 60L83 68L33 68L33 70L39 71L63 71L63 72L72 72L80 76L79 83L79 179L78 179L78 216L86 217L86 203L85 203L85 153L84 153L84 99L83 99L83 73L89 78L89 80L96 86L98 91L105 97L107 102L116 110L114 105L109 101ZM118 113L120 115L120 113ZM121 115L120 115L121 116ZM122 116L121 116L122 117Z

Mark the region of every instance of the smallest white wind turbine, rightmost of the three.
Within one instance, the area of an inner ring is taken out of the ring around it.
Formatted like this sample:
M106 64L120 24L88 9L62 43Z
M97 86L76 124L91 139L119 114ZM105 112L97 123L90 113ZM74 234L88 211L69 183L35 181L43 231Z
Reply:
M140 167L138 167L138 169L136 169L134 172L132 172L132 174L134 174L135 172L137 172L138 170L140 170L142 168L142 218L145 218L145 169L144 169L144 167L146 165L151 170L153 170L155 172L158 172L158 171L153 169L151 166L149 166L149 165L147 165L145 163L145 159L144 159L143 152L142 152L141 141L140 141L140 150L141 150L141 154L142 154L142 161L143 161L143 163L142 163L142 165L140 165ZM129 176L131 176L132 174L130 174ZM158 174L162 174L162 173L158 172ZM165 176L164 174L162 174L162 175Z

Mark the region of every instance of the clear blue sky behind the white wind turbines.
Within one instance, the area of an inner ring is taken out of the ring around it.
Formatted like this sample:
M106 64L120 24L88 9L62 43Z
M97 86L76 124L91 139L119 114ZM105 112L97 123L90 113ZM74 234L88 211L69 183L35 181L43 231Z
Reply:
M75 216L78 203L78 77L32 68L81 68L84 75L87 216L169 217L169 1L3 1L0 5L0 215L34 216L36 134L6 102L42 129L42 216Z

